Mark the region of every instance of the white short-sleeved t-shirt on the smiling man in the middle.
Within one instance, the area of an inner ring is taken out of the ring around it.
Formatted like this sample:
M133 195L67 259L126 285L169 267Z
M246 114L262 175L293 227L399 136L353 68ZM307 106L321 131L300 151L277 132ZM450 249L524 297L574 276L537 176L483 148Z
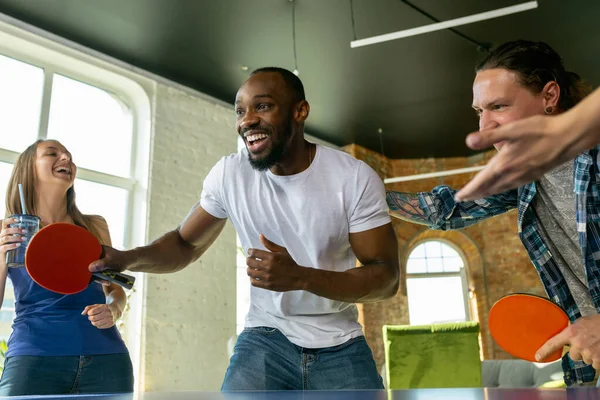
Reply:
M389 223L383 182L367 164L317 145L309 168L278 176L256 171L246 149L223 157L204 180L200 205L229 218L242 244L266 250L259 239L285 247L303 267L356 267L349 233ZM250 282L248 282L250 284ZM274 292L252 286L246 327L279 329L305 348L340 345L362 335L354 304L303 290Z

